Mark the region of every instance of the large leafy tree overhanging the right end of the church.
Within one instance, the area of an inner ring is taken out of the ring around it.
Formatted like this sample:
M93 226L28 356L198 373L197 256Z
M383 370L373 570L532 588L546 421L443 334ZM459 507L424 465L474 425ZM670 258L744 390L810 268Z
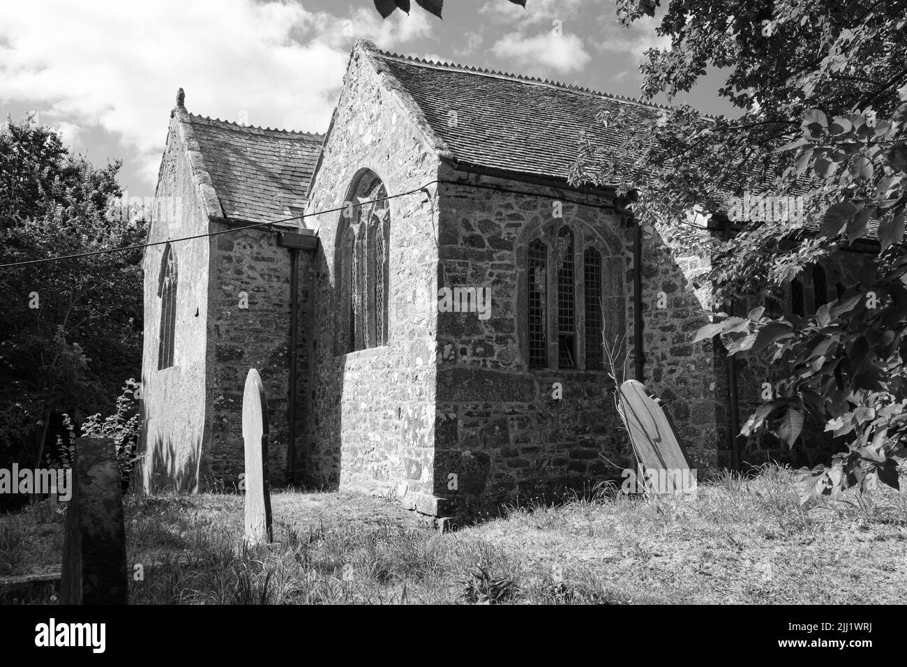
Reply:
M618 0L630 25L654 16L657 0ZM717 309L741 291L765 296L804 268L838 255L878 223L881 251L834 302L812 317L718 312L697 340L720 335L729 355L783 369L785 381L742 429L775 433L793 446L805 413L848 451L805 479L804 497L848 485L897 485L892 454L907 437L907 2L829 4L819 0L671 0L641 66L645 96L688 91L707 68L726 74L720 94L737 118L707 118L688 106L648 127L607 119L623 142L603 154L582 140L574 183L617 185L636 200L640 224L678 243L701 243L682 224L697 206L728 195L805 193L821 224L747 221L734 238L712 240L705 277ZM606 119L600 119L606 120Z

